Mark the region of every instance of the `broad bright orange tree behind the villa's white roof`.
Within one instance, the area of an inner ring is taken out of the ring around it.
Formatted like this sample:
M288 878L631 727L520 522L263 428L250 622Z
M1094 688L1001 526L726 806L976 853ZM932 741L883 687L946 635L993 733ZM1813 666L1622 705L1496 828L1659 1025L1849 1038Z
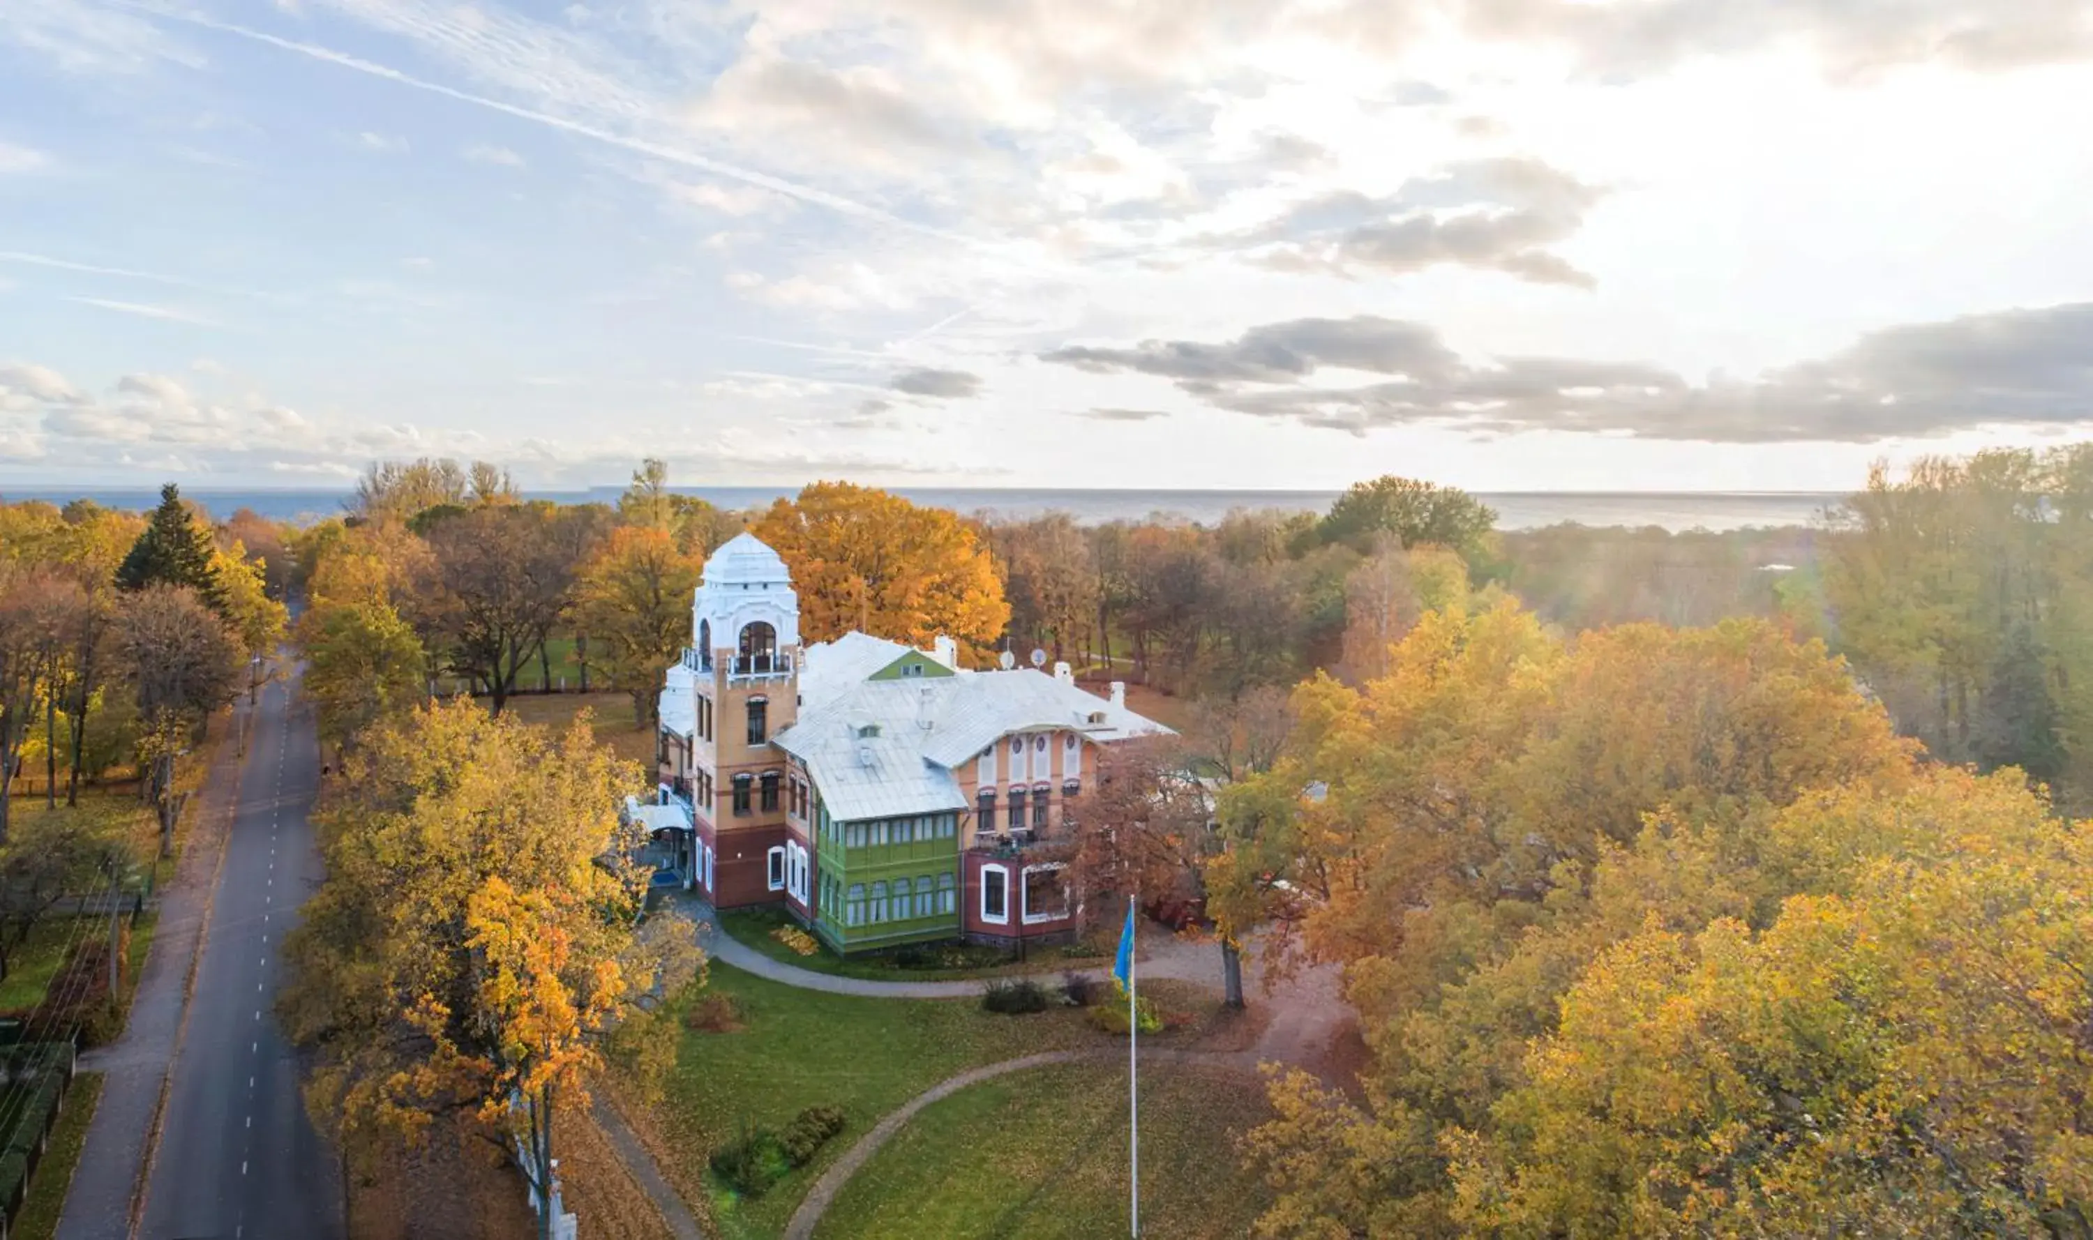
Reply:
M814 483L772 504L753 533L791 569L808 642L858 629L929 646L942 634L980 659L1011 619L988 548L942 508Z

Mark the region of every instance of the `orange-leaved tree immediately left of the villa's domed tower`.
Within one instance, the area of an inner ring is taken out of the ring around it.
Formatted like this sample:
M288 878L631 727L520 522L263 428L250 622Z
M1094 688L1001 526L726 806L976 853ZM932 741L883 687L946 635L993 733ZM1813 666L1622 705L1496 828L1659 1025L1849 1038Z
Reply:
M632 717L655 721L661 669L691 636L691 592L703 562L678 550L657 527L622 527L582 569L573 621L611 669L611 684L632 694Z

